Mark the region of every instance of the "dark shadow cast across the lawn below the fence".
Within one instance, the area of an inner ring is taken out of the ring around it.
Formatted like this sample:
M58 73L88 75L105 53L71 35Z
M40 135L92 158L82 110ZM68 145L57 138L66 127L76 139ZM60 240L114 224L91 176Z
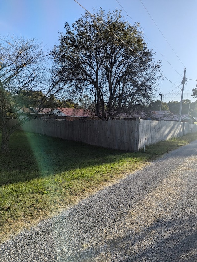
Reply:
M110 164L127 154L23 131L16 131L10 137L9 150L9 153L0 153L0 184Z

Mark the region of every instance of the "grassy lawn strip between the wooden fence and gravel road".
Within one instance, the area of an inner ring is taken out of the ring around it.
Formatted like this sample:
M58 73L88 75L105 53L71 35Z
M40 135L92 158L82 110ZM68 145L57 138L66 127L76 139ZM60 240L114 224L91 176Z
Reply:
M10 153L0 153L0 242L195 139L192 133L127 153L17 131Z

